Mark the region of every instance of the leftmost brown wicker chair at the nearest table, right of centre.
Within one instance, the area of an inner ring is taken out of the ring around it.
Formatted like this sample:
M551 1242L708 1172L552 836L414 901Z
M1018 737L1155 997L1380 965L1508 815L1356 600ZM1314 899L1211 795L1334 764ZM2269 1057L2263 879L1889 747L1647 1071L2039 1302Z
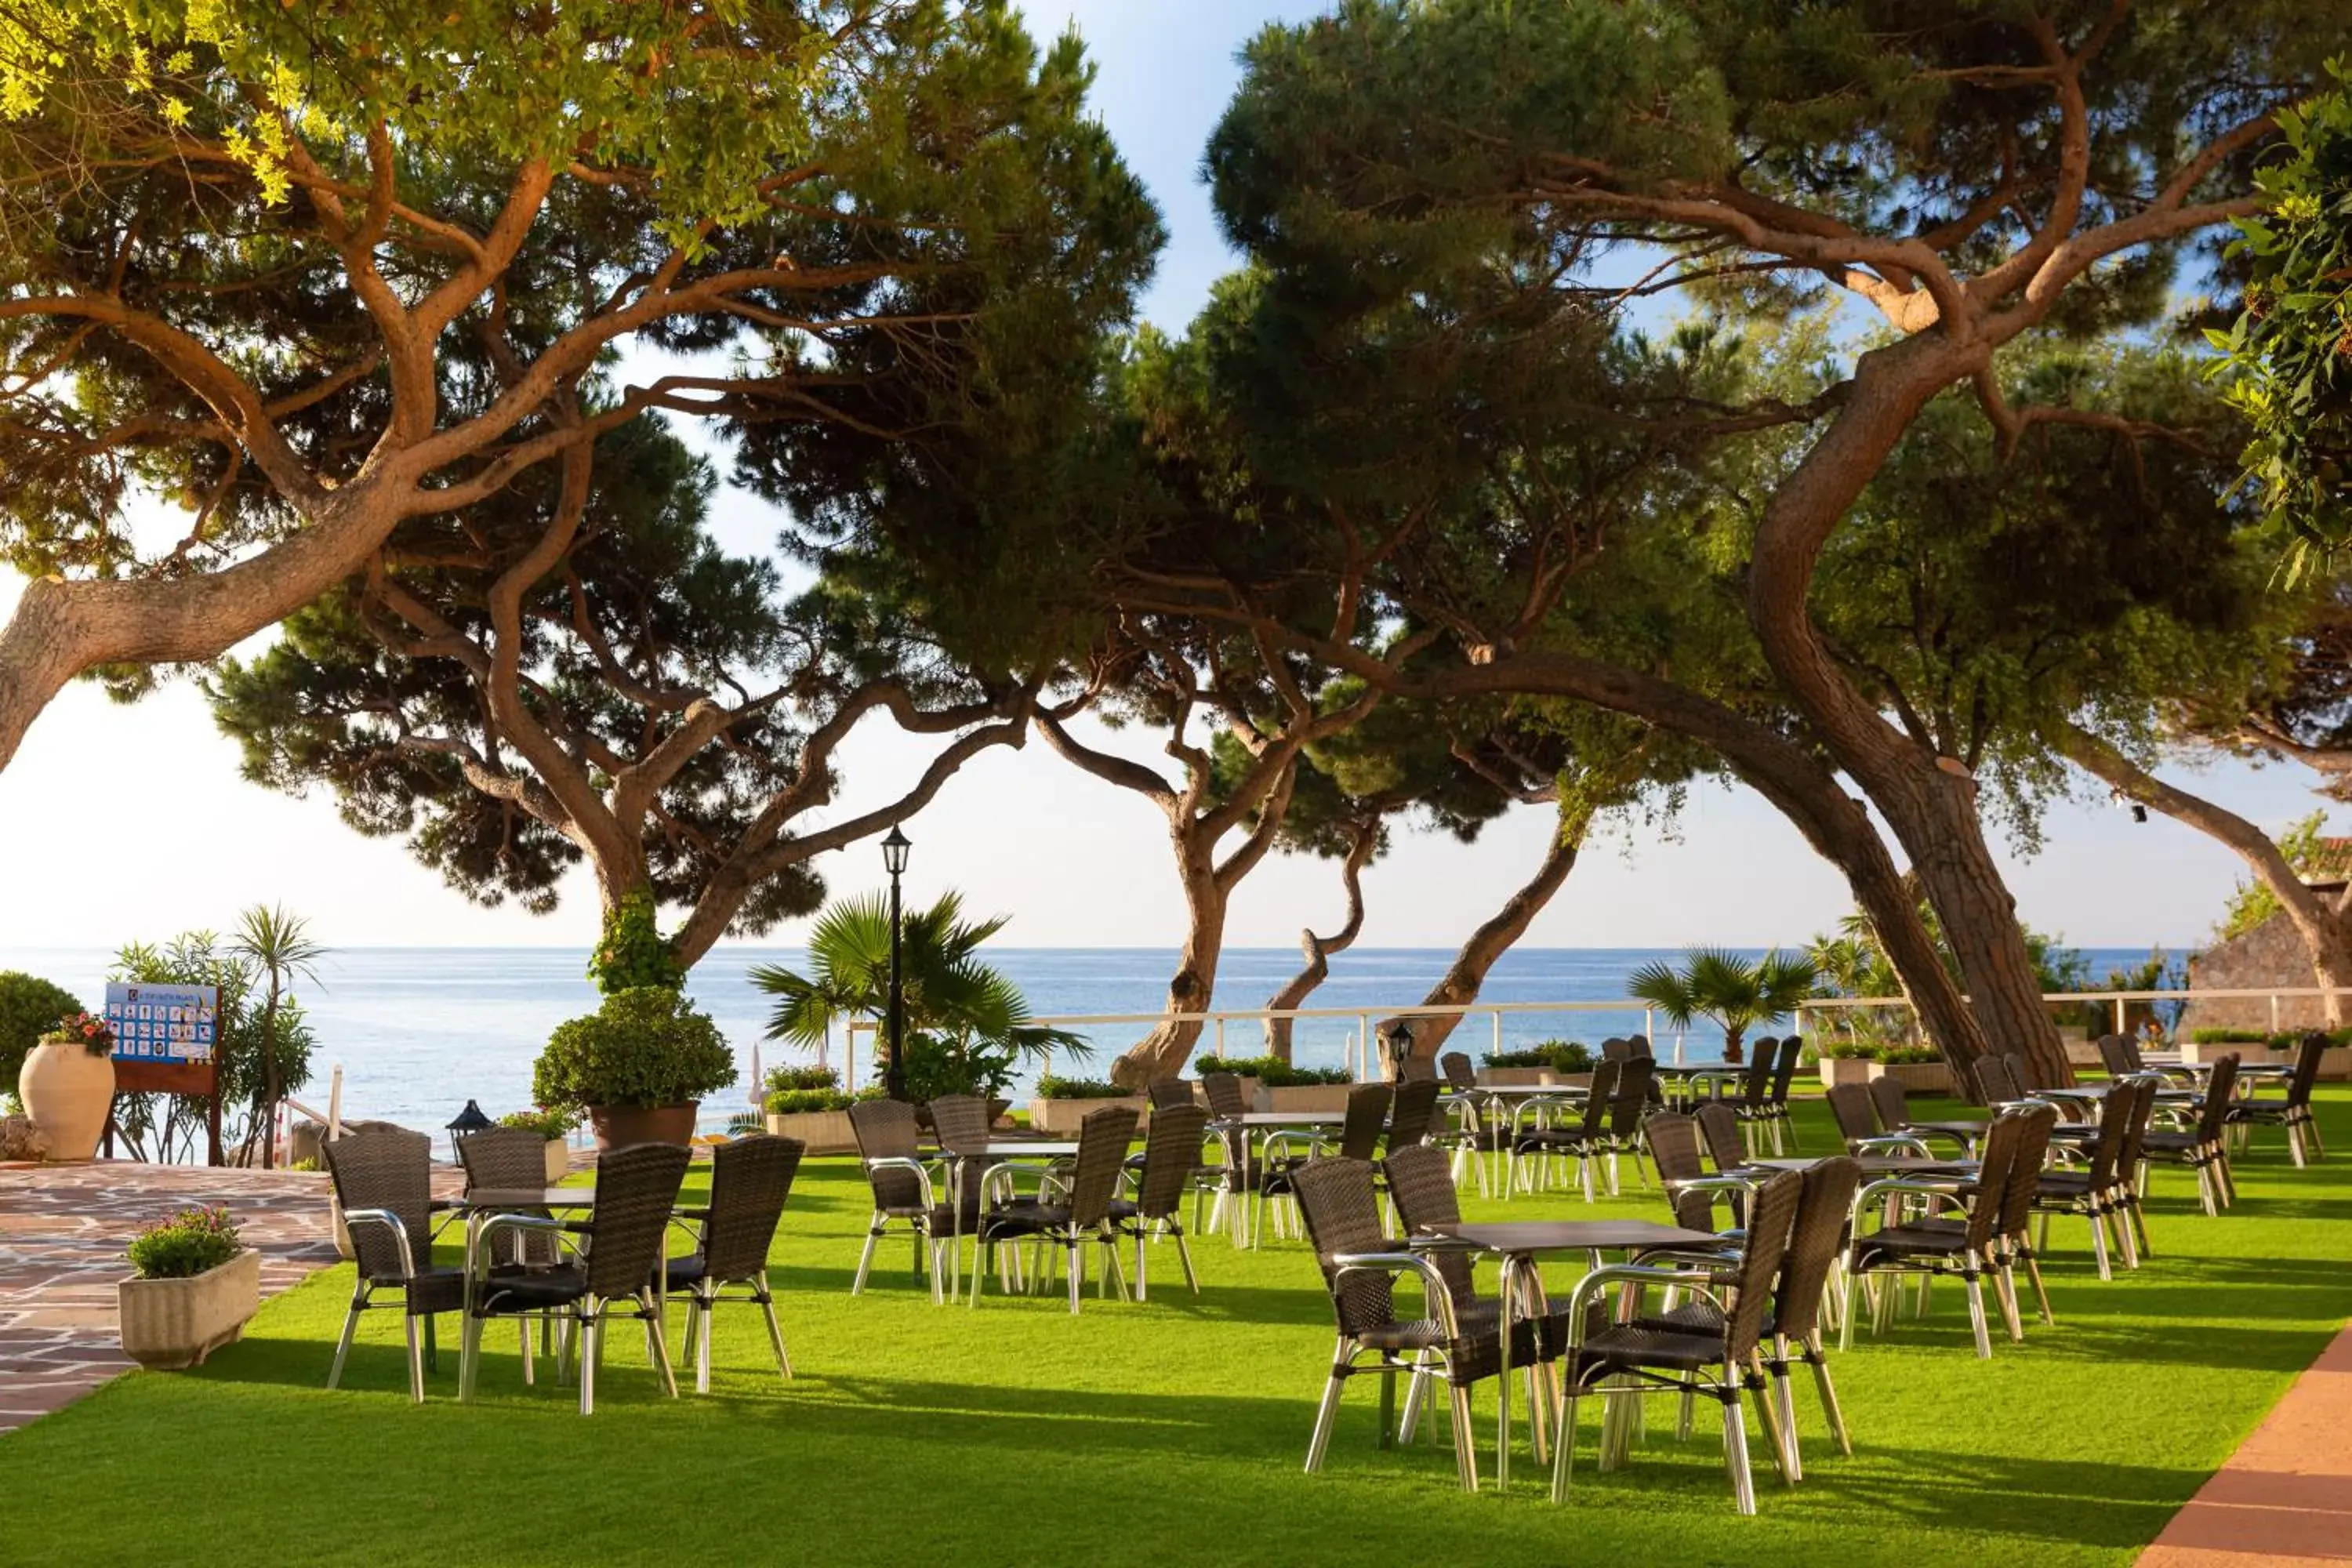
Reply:
M1435 1150L1430 1154L1435 1157ZM1411 1175L1411 1166L1414 1161L1406 1161L1406 1175ZM1367 1373L1381 1378L1381 1434L1385 1441L1392 1429L1397 1378L1404 1375L1414 1385L1406 1399L1406 1427L1411 1427L1425 1380L1444 1371L1454 1415L1454 1472L1461 1488L1475 1493L1477 1439L1470 1425L1470 1387L1501 1371L1501 1333L1477 1331L1463 1321L1437 1255L1416 1255L1404 1244L1388 1239L1381 1229L1381 1199L1369 1161L1310 1161L1298 1168L1296 1190L1298 1213L1315 1246L1324 1286L1331 1291L1331 1314L1338 1321L1331 1375L1324 1382L1322 1403L1315 1408L1315 1434L1308 1439L1308 1472L1319 1472L1324 1465L1331 1427L1338 1422L1341 1392L1350 1378ZM1446 1190L1451 1192L1451 1180L1446 1180ZM1421 1192L1421 1182L1414 1180L1416 1199ZM1418 1319L1397 1314L1395 1281L1399 1274L1414 1274L1421 1281L1423 1316ZM1522 1333L1526 1359L1534 1361L1536 1335L1534 1331ZM1357 1366L1367 1354L1378 1356L1376 1363ZM1411 1361L1402 1356L1411 1356Z

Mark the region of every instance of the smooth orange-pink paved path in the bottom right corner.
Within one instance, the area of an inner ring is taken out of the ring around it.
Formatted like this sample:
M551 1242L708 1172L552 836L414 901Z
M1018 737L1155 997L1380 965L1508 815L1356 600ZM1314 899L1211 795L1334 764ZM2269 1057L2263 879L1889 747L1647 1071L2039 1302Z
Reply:
M2352 1563L2352 1328L2296 1378L2138 1568Z

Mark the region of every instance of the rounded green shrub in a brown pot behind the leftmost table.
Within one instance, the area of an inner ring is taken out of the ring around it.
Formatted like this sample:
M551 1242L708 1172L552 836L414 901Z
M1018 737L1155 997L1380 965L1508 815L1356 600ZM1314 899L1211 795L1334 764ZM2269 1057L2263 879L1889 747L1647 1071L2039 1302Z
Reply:
M680 992L637 985L555 1025L532 1067L532 1098L588 1117L595 1147L694 1143L703 1095L734 1084L734 1051Z

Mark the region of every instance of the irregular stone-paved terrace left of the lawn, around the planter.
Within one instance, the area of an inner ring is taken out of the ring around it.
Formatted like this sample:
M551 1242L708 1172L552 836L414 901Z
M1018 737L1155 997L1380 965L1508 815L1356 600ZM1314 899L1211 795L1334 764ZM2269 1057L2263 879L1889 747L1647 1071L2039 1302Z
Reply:
M115 1281L132 1234L188 1204L226 1204L261 1248L261 1293L334 1262L327 1178L198 1166L0 1166L0 1432L80 1399L132 1363Z

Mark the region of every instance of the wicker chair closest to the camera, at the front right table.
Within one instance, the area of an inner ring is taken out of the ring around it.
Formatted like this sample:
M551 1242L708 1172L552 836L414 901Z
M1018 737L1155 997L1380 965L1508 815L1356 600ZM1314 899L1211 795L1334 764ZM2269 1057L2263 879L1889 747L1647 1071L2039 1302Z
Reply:
M1748 1467L1748 1422L1740 1413L1740 1396L1755 1396L1773 1462L1785 1465L1788 1446L1766 1394L1762 1340L1771 1316L1771 1288L1788 1255L1802 1192L1804 1178L1795 1171L1783 1171L1755 1190L1748 1246L1729 1269L1719 1262L1712 1267L1609 1265L1576 1281L1569 1309L1548 1324L1548 1328L1566 1328L1559 1356L1564 1403L1552 1455L1552 1502L1569 1497L1576 1462L1576 1403L1581 1399L1606 1394L1613 1403L1642 1394L1689 1394L1693 1399L1703 1394L1724 1408L1724 1469L1731 1476L1733 1505L1740 1514L1755 1514L1755 1476ZM1700 1302L1712 1305L1712 1319L1719 1328L1710 1333L1644 1324L1639 1291L1646 1286L1691 1293L1696 1300L1682 1312L1691 1312ZM1616 1321L1604 1316L1611 1295L1621 1298ZM1623 1458L1628 1427L1630 1422L1616 1422L1611 1429L1604 1422L1604 1465L1611 1450Z

